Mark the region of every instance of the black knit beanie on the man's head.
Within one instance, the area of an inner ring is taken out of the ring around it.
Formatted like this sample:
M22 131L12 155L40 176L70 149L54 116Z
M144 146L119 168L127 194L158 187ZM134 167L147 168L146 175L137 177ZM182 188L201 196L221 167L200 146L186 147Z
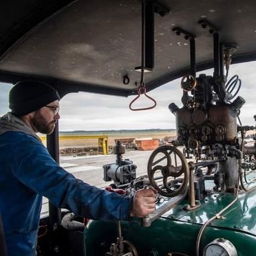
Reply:
M54 100L60 100L59 93L49 84L22 81L13 86L9 93L9 108L16 116L26 115L40 109Z

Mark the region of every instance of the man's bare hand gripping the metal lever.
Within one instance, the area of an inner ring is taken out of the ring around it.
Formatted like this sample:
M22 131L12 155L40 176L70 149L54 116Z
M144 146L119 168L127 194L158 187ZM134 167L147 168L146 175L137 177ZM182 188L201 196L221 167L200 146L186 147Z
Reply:
M136 191L133 201L131 216L143 218L156 209L155 191L153 189L140 189Z

